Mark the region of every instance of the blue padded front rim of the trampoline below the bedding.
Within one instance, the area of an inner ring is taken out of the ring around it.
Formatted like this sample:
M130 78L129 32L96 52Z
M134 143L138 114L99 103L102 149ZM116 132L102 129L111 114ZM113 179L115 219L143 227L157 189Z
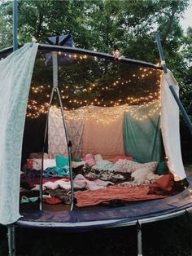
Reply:
M142 218L155 218L160 215L176 213L192 207L192 177L188 177L189 187L176 196L139 202L133 205L107 208L98 206L94 210L72 210L65 207L62 211L26 210L16 224L33 227L51 227L50 223L70 232L85 231L100 227L110 227L131 223ZM68 209L68 210L66 210ZM33 223L33 224L32 224ZM65 225L66 224L66 225Z

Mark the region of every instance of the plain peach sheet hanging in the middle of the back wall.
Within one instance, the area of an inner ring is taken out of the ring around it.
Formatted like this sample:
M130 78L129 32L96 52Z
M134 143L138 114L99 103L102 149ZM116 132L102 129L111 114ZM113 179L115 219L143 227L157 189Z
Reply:
M89 107L83 132L83 155L101 154L104 158L123 155L124 106L112 108Z

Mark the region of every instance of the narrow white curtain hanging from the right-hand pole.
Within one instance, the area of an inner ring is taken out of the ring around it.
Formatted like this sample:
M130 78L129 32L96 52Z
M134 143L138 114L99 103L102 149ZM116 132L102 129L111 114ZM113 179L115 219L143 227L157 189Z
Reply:
M161 130L164 149L168 157L168 169L174 174L175 180L185 179L185 170L181 157L181 143L179 130L179 108L172 96L169 86L173 86L179 95L179 86L168 70L161 79Z

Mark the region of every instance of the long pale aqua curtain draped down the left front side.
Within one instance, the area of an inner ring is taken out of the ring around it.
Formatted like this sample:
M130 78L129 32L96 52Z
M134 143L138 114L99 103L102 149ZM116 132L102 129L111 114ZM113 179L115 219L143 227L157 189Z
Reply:
M0 223L4 225L20 218L21 149L37 47L28 43L0 61Z

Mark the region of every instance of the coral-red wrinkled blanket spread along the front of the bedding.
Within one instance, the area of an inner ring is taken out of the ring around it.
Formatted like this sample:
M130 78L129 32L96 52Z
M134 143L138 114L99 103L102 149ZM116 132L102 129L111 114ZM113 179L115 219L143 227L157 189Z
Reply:
M98 205L102 202L111 200L143 201L167 197L148 194L148 191L149 187L142 185L132 188L111 186L109 188L102 188L93 191L76 192L76 205L78 207L84 207L89 205Z

